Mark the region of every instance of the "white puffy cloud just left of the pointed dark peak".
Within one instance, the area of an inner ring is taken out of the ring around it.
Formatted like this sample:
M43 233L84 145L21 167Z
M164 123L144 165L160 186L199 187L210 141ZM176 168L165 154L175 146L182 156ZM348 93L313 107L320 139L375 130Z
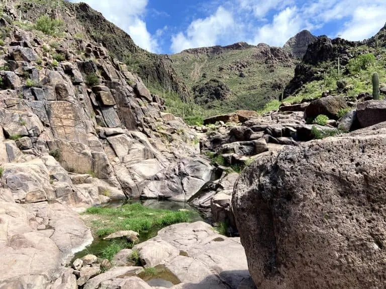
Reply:
M302 28L302 19L298 9L287 7L273 17L272 23L259 28L253 40L254 44L268 43L272 46L282 46L289 38Z

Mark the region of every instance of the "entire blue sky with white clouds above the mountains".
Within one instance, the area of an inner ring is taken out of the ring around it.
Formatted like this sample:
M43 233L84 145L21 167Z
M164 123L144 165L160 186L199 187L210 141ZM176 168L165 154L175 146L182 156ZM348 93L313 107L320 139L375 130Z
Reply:
M76 0L71 0L78 2ZM282 46L303 29L363 40L386 22L386 0L82 0L155 53L239 41Z

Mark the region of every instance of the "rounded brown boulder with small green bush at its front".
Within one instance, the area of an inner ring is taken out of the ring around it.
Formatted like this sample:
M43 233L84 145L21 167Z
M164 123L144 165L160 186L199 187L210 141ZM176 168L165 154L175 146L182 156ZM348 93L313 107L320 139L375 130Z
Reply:
M339 110L345 108L348 108L348 105L344 97L330 95L312 101L304 112L304 118L315 118L324 114L331 119L338 119Z

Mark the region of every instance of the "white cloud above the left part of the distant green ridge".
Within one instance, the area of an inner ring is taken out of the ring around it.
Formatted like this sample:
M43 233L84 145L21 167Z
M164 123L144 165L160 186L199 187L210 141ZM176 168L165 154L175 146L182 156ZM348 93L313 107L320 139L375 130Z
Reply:
M216 13L190 23L186 32L171 37L171 50L180 52L187 48L214 46L219 38L231 33L235 25L233 15L220 6Z

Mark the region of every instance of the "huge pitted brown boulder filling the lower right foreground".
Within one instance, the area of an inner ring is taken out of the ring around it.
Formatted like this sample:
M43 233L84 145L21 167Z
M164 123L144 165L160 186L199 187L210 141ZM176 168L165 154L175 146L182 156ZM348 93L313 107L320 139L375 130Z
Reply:
M380 288L386 123L248 166L232 208L259 288Z

